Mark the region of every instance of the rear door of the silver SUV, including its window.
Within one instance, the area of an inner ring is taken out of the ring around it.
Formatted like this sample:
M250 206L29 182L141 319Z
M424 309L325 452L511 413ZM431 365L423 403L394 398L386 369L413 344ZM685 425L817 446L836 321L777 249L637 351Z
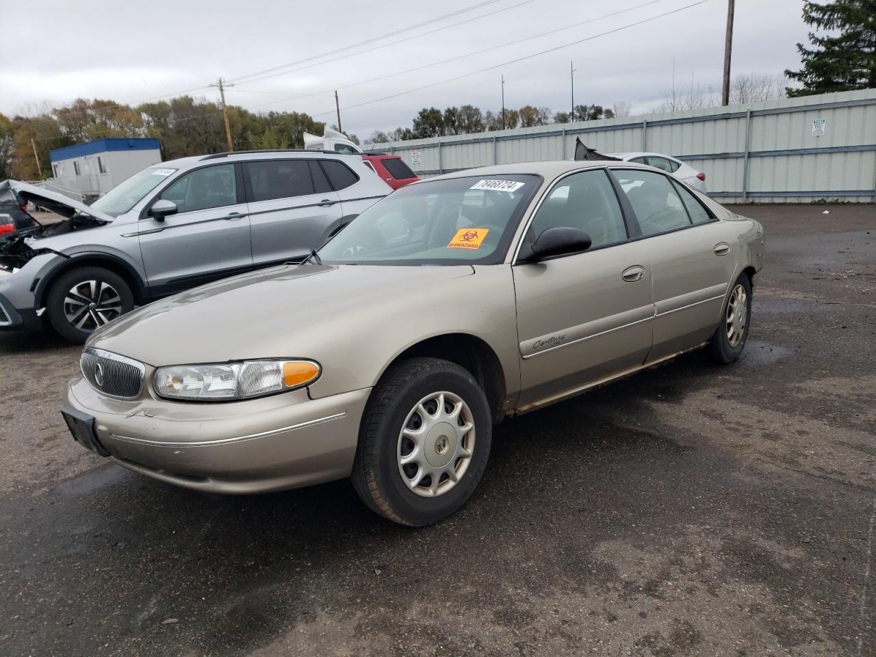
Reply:
M340 196L314 160L261 159L243 166L257 267L307 257L340 225Z

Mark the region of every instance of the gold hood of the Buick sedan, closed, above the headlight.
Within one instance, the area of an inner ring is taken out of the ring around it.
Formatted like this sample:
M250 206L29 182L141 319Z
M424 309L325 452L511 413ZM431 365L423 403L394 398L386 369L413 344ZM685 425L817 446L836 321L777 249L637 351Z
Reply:
M138 308L95 331L88 346L153 366L308 357L325 336L364 340L359 320L404 321L406 298L442 306L442 281L470 265L284 265L223 279Z

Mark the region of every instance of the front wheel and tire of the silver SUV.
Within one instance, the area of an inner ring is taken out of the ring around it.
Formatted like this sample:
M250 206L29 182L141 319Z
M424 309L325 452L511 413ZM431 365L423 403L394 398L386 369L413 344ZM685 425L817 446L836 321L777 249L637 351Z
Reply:
M46 297L49 323L72 343L84 343L95 329L133 308L131 286L102 267L61 274Z

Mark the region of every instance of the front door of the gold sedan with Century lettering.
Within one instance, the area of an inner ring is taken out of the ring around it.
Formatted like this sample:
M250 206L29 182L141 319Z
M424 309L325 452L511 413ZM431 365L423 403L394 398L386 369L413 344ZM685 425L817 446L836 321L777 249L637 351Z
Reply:
M518 258L542 230L570 226L590 249L512 267L517 296L519 406L574 392L642 364L651 348L647 247L624 221L604 169L557 180L533 216Z

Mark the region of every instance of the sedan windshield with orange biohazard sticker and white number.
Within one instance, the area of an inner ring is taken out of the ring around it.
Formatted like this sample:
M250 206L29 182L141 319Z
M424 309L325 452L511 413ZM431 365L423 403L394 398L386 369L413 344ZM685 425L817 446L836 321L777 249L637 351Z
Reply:
M319 250L337 265L494 265L505 258L537 175L433 180L393 192Z

